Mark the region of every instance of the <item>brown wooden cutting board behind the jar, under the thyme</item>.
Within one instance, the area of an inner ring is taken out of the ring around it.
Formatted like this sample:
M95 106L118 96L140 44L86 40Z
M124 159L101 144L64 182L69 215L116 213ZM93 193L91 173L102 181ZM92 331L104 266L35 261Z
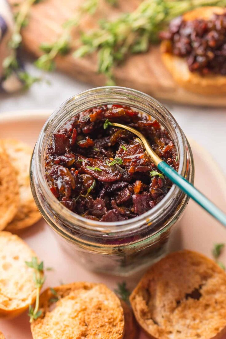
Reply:
M23 1L23 0L22 0ZM83 0L43 0L33 5L29 24L23 29L23 44L27 52L38 57L42 54L39 45L56 41L62 32L62 23L76 13ZM10 0L11 3L18 0ZM101 0L94 16L87 15L79 28L73 31L73 49L79 46L79 31L97 26L100 18L114 19L121 12L133 11L141 0L118 0L117 8ZM56 58L57 68L78 80L95 86L105 85L105 77L96 73L97 56L75 59L71 54ZM130 56L114 70L119 86L131 87L148 93L159 100L203 106L226 106L225 96L203 96L185 91L173 81L161 61L159 46L151 46L145 54Z

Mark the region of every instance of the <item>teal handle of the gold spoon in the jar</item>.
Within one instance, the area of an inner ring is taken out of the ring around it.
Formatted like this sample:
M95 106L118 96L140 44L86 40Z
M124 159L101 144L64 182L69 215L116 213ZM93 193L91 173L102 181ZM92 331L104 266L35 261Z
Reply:
M192 184L185 178L178 174L175 169L170 167L166 162L161 161L158 164L158 169L165 174L174 184L181 188L181 190L202 206L209 214L219 220L226 226L226 215L215 206L209 199L207 199L201 192L199 192Z

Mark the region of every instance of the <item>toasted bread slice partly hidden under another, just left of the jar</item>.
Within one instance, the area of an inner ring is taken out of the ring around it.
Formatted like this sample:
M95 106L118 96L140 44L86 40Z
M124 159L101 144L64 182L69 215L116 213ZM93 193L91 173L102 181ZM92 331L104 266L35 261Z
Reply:
M4 139L4 146L13 164L19 183L20 204L14 219L6 227L6 231L15 232L29 227L41 218L30 188L29 169L32 148L14 139Z

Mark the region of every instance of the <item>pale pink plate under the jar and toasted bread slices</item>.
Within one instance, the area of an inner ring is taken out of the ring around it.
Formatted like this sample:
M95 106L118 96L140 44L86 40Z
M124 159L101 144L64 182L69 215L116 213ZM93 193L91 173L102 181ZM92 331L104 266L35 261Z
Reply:
M1 138L17 138L35 145L41 127L51 112L15 112L0 115ZM210 159L208 152L190 140L195 161L195 185L208 198L226 212L226 182L218 166ZM53 235L51 228L40 220L33 227L19 234L44 261L45 267L54 270L46 272L45 286L57 286L60 283L74 281L103 282L114 289L117 282L127 280L132 290L140 275L131 279L94 274L86 271L65 254ZM211 249L216 242L226 242L226 230L193 201L190 201L186 212L174 228L171 236L171 250L188 248L211 257ZM221 261L226 263L226 251ZM32 339L29 318L24 313L13 320L1 320L0 331L6 339ZM140 339L147 338L140 334Z

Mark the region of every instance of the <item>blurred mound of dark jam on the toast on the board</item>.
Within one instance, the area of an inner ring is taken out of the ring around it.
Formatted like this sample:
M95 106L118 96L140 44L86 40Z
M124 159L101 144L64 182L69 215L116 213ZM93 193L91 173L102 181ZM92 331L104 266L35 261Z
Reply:
M190 72L226 75L226 13L209 20L175 18L160 38L168 40L165 52L186 58Z

